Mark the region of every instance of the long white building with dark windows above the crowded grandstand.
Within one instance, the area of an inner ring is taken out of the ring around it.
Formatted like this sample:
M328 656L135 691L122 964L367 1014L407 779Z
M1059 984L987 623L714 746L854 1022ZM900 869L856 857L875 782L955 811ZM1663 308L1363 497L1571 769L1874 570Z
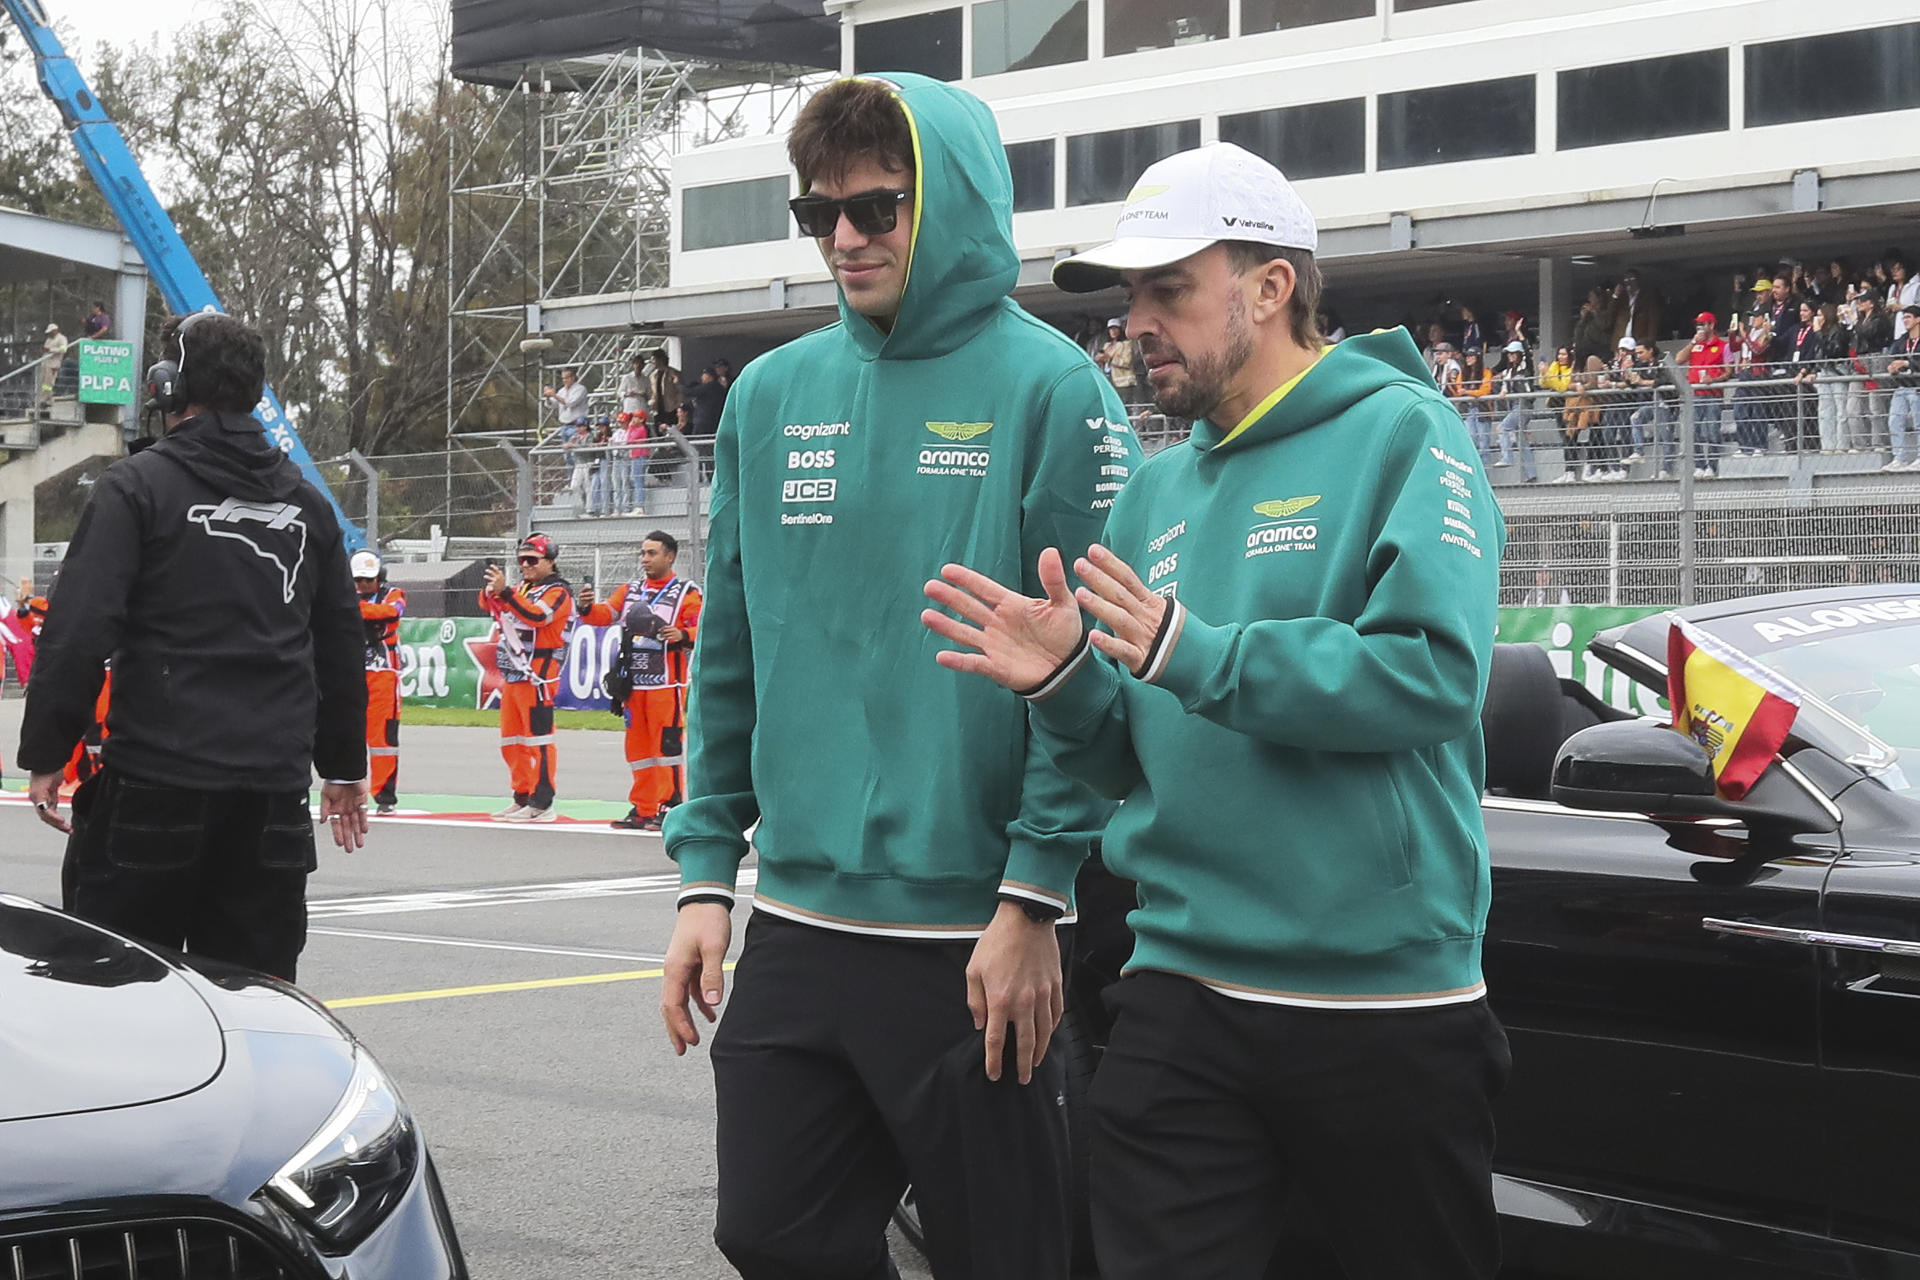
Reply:
M843 71L922 71L995 109L1014 173L1016 294L1071 326L1052 261L1106 240L1154 159L1227 138L1321 223L1350 328L1442 297L1517 307L1557 342L1636 265L1668 326L1724 315L1782 255L1920 251L1912 0L826 0ZM549 297L547 332L678 336L693 367L828 322L833 284L785 211L781 136L674 161L670 286Z

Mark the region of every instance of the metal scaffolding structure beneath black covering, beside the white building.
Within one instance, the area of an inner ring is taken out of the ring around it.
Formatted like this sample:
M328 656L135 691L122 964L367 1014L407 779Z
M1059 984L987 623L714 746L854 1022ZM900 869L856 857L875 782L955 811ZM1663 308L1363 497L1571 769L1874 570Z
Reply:
M657 336L540 332L540 305L668 282L672 157L791 123L820 71L624 50L526 67L451 130L447 439L534 438L540 388L574 367L611 413L620 372Z

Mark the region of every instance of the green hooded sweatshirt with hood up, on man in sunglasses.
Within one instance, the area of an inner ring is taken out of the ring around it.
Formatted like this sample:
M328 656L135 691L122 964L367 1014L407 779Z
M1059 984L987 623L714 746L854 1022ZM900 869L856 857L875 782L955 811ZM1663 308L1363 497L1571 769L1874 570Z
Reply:
M879 79L918 157L900 313L881 332L841 297L728 395L666 852L682 898L732 900L758 821L756 910L952 938L1002 889L1069 908L1112 802L1054 768L1016 695L935 662L922 587L960 562L1041 595L1041 549L1098 541L1139 447L1087 353L1008 297L993 113Z

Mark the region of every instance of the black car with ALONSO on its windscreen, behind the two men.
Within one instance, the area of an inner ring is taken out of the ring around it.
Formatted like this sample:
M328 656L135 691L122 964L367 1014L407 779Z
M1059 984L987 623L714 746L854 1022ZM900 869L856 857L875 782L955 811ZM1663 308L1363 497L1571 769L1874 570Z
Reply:
M1920 1278L1920 587L1678 612L1801 693L1738 802L1692 739L1557 677L1540 647L1496 647L1484 967L1513 1046L1507 1270ZM1651 704L1668 626L1590 652ZM1133 946L1131 885L1094 860L1079 896L1056 1040L1075 1138L1098 992ZM910 1197L899 1221L918 1232ZM1271 1274L1329 1274L1292 1226ZM1077 1253L1091 1265L1085 1217Z

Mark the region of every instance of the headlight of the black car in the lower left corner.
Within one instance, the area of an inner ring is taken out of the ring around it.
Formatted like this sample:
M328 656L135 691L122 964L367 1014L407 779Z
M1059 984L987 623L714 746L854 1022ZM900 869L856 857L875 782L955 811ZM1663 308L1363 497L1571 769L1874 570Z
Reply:
M419 1151L407 1105L372 1057L355 1048L340 1105L280 1165L267 1190L321 1240L351 1249L407 1194Z

